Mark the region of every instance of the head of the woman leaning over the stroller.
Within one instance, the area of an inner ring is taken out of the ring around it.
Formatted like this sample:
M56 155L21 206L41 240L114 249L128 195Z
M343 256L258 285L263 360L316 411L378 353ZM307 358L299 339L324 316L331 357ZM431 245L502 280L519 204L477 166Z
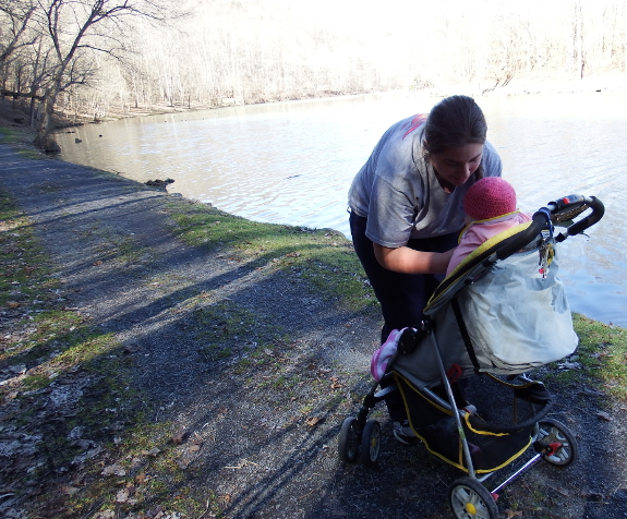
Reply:
M468 96L451 96L431 110L424 124L424 158L445 188L465 184L471 174L483 177L481 158L487 123L481 108Z

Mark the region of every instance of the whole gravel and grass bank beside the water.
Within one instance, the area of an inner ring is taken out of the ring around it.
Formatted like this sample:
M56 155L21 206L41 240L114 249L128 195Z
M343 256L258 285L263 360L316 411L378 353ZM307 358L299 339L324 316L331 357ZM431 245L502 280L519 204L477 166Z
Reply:
M450 517L459 474L385 410L379 464L337 458L381 325L350 242L37 157L0 144L4 517ZM625 330L577 330L542 375L580 462L516 482L504 517L625 517Z

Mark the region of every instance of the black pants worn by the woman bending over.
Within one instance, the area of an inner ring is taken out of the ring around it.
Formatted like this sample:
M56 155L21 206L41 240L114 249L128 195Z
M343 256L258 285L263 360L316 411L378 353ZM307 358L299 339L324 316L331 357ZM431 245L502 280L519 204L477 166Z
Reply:
M349 222L354 250L381 303L384 319L381 343L385 342L393 329L408 326L420 328L424 318L422 311L444 279L444 274L401 274L382 267L374 255L373 242L365 236L367 218L351 213ZM453 232L424 240L410 240L407 246L424 252L446 252L457 246L457 238L458 233ZM398 391L388 395L385 402L394 422L407 419L405 403Z

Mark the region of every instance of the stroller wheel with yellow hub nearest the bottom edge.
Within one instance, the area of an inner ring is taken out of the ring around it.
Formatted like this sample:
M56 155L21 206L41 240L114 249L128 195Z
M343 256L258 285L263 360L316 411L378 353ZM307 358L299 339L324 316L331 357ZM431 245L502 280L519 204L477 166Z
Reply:
M457 519L498 519L494 497L472 478L455 480L448 488L448 502Z

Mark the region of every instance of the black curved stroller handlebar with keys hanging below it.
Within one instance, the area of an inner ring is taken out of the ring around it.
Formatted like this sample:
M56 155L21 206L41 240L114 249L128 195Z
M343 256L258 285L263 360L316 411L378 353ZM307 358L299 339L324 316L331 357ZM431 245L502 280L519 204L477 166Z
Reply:
M579 234L589 227L592 227L603 217L605 207L599 198L583 195L568 195L550 202L546 207L542 207L533 214L531 225L526 230L503 242L503 245L495 252L496 257L498 260L505 260L520 251L528 243L531 243L533 239L546 228L548 219L558 220L560 215L577 216L588 208L592 209L592 213L567 227L566 233L556 236L555 240L557 242L562 242L568 237Z

